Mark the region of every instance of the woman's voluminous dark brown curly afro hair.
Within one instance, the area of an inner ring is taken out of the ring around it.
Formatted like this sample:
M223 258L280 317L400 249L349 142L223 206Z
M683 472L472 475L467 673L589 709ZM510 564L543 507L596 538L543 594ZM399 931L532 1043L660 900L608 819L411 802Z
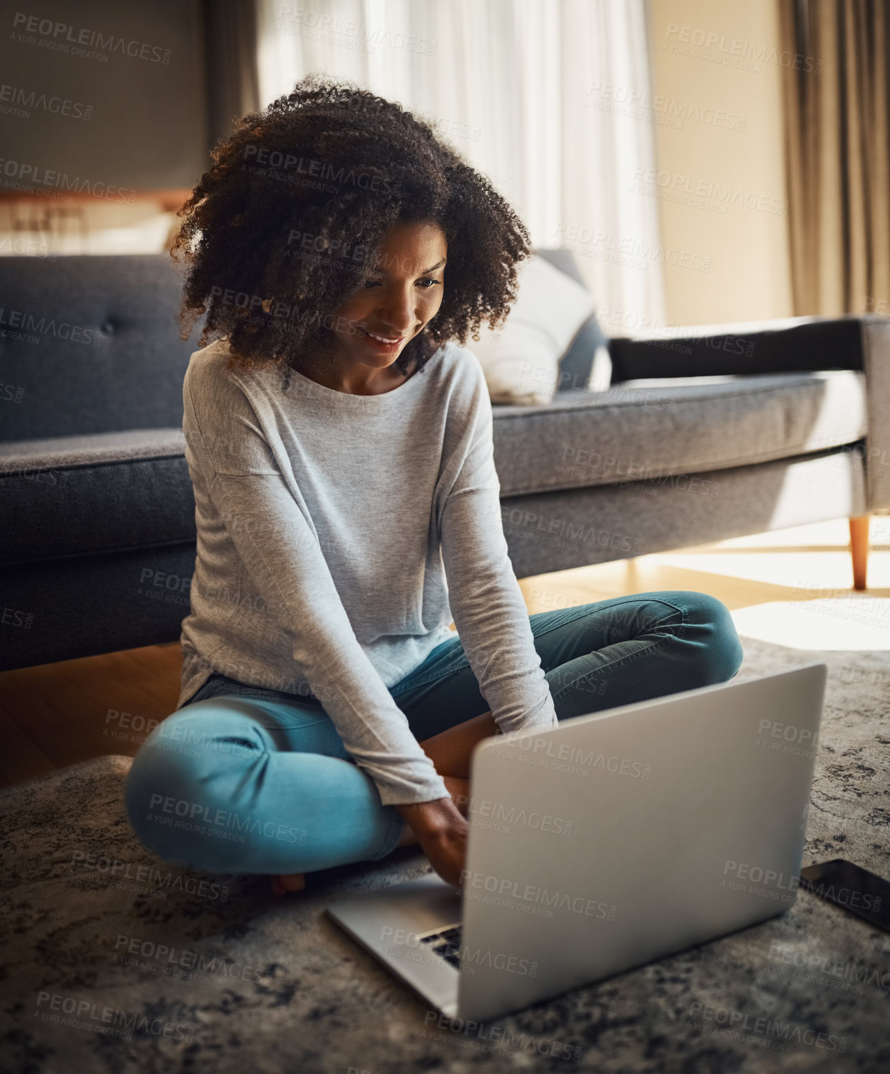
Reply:
M441 307L396 360L404 376L509 313L531 252L525 224L399 104L310 74L210 156L170 252L184 255L181 337L206 314L199 347L228 337L230 369L316 367L332 315L399 223L433 221L448 242Z

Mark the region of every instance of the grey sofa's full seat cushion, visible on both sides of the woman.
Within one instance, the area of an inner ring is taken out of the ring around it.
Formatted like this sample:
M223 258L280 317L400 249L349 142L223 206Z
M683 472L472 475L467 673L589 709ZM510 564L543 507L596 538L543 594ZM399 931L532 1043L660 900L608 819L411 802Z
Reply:
M853 369L626 381L493 405L501 496L786 459L862 439ZM195 539L181 429L0 444L0 564Z

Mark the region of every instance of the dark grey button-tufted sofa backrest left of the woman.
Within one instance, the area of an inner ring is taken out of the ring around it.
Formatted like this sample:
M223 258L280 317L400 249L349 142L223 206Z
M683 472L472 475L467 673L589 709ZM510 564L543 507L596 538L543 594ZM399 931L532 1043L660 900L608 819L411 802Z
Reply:
M178 425L200 336L179 336L180 292L167 253L0 257L0 380L20 398L0 440Z

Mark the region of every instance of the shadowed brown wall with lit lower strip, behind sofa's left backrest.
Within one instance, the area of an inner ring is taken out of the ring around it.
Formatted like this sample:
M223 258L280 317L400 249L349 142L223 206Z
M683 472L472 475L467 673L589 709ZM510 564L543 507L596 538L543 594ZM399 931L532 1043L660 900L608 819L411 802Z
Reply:
M26 0L0 28L0 253L157 247L206 161L199 0Z

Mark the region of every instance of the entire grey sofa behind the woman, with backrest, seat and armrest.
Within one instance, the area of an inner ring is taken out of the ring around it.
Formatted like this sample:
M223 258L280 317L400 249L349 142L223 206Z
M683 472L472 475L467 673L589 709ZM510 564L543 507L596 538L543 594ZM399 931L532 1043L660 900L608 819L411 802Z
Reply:
M196 334L170 259L0 258L0 669L177 640ZM592 393L599 338L579 333L553 403L494 407L517 577L890 506L890 321L612 337L613 387Z

